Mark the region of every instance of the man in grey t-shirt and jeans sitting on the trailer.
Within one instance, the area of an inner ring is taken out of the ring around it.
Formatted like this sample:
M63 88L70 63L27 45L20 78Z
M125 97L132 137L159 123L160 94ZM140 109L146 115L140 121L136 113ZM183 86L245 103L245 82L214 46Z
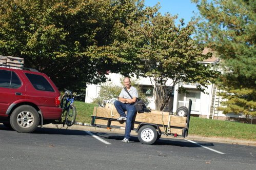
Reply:
M129 77L125 77L124 85L127 90L125 88L122 89L119 95L119 100L115 100L114 106L117 112L120 114L120 117L117 118L117 120L126 120L125 138L122 140L122 142L128 143L131 133L131 121L136 112L134 103L139 95L137 89L131 86L131 79ZM125 114L125 111L127 114Z

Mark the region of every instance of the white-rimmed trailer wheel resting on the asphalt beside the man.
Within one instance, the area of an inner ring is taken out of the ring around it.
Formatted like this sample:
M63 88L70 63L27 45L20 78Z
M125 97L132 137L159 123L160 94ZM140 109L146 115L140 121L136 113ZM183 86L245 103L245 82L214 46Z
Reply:
M151 125L144 125L138 132L138 138L143 144L153 144L157 139L156 129Z

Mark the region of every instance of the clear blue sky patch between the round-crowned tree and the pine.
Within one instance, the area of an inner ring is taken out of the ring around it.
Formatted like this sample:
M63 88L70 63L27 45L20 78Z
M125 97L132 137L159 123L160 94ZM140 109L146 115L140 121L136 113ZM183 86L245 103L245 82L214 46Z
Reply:
M169 12L171 15L178 14L178 20L184 18L185 24L194 16L193 11L199 13L196 5L191 3L190 0L145 0L145 5L152 7L156 5L157 2L160 2L161 6L159 12L162 14Z

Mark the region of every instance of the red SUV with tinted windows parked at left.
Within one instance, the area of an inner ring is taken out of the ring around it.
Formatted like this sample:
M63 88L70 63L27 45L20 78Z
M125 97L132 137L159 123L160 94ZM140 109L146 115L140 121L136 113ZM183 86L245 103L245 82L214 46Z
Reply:
M60 92L34 69L0 67L0 122L17 132L61 119Z

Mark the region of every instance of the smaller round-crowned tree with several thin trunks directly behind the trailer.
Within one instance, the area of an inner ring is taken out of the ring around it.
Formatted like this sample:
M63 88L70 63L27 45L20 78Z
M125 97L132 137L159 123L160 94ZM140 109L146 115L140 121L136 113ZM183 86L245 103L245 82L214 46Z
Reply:
M216 73L199 63L211 54L203 55L203 46L191 38L196 22L184 26L181 20L175 25L177 16L163 16L157 11L157 6L146 8L139 19L130 20L130 25L121 28L124 40L116 40L109 48L113 56L130 63L121 73L150 77L155 108L163 110L174 86L182 81L197 83L197 88L204 91Z

